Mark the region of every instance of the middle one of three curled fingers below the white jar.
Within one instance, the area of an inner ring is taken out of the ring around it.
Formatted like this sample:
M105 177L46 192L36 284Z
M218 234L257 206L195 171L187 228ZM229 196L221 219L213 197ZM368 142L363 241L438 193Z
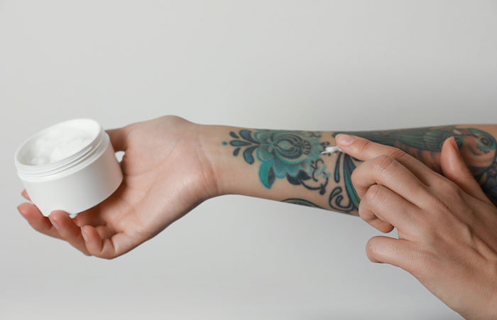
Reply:
M50 222L57 229L62 239L69 242L77 250L80 250L84 255L89 255L84 238L81 234L81 228L64 211L54 210L50 213Z

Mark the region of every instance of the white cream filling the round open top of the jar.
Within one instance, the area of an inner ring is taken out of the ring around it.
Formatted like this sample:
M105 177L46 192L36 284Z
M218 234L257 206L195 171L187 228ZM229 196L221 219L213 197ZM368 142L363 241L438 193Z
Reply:
M21 162L28 166L53 164L90 144L98 131L84 122L72 122L49 127L29 142Z

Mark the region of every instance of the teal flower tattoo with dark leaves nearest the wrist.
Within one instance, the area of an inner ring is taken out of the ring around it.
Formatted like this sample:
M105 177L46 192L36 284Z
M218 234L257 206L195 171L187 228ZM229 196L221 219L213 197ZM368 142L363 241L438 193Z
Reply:
M229 134L234 138L229 142L236 147L234 156L244 148L247 163L254 163L254 153L261 161L259 179L266 188L271 188L276 178L286 177L292 184L302 184L324 194L331 174L326 172L320 154L329 142L320 142L320 132L242 129L239 134Z

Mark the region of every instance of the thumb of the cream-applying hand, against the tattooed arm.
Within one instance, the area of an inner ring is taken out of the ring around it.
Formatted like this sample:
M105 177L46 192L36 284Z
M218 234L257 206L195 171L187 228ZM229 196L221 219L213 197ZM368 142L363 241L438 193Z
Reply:
M479 183L476 181L471 171L469 171L464 159L462 159L459 152L459 146L457 146L454 137L446 139L442 145L440 165L442 166L442 173L444 176L456 183L464 192L474 198L492 204L484 191L481 190Z

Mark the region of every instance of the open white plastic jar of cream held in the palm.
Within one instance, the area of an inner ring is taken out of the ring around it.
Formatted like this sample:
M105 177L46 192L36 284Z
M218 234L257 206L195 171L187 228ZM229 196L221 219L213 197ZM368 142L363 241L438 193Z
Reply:
M123 174L109 135L92 119L43 129L16 151L17 174L43 215L64 210L74 218L121 184Z

